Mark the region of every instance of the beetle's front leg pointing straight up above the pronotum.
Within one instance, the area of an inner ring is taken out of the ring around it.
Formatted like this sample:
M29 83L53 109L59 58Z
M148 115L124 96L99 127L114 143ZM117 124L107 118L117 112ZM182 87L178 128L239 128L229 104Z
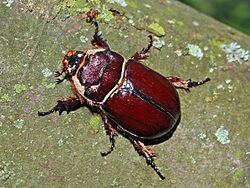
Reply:
M95 25L95 34L93 39L91 40L91 44L96 48L104 48L110 50L107 40L102 38L102 34L99 33L98 23L96 21L93 22Z

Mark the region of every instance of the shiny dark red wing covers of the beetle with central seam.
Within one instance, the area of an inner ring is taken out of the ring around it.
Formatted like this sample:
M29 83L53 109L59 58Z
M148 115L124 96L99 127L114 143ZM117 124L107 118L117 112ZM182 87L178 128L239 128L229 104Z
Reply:
M123 86L103 109L128 134L160 139L179 123L178 93L165 77L136 61L128 61L125 74Z

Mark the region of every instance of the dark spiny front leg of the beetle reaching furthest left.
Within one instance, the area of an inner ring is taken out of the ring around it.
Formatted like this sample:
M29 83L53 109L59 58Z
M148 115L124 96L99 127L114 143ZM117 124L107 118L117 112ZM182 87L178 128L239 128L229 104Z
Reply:
M82 105L80 99L77 97L63 98L61 100L58 100L57 105L54 106L51 110L46 111L46 112L39 112L38 111L38 116L46 116L46 115L49 115L53 112L59 112L59 115L61 115L63 111L66 111L68 114L69 112L75 111L82 106L83 105Z

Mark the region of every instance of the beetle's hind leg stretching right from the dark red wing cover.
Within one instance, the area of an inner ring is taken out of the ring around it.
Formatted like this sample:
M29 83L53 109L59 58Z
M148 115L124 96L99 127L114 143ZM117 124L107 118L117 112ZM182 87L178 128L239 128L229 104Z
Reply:
M177 76L168 76L166 77L177 89L184 89L187 92L190 92L190 88L196 87L202 84L205 84L206 82L210 81L210 78L206 78L202 81L192 81L191 79L183 80Z

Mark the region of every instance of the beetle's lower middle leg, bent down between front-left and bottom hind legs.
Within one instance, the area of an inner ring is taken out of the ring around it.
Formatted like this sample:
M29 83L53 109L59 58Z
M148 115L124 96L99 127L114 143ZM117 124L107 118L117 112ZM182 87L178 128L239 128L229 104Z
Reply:
M109 123L108 117L106 115L102 115L102 119L104 122L106 134L109 136L109 141L111 143L111 146L110 146L108 151L101 152L101 155L104 157L104 156L107 156L108 154L110 154L114 150L114 148L115 148L115 136L118 136L118 135L117 135L115 129Z

